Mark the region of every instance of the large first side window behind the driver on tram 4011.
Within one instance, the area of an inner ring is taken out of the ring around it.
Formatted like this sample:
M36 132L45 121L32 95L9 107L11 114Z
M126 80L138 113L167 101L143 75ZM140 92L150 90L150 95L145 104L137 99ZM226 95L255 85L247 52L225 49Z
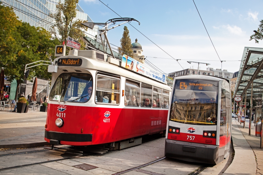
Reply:
M97 74L96 103L119 104L120 78Z

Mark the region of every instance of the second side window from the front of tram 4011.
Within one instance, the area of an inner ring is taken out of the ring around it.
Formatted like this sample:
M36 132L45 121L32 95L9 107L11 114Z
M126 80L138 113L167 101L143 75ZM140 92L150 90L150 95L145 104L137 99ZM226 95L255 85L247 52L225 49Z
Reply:
M125 82L125 106L139 106L140 101L140 83L126 79Z

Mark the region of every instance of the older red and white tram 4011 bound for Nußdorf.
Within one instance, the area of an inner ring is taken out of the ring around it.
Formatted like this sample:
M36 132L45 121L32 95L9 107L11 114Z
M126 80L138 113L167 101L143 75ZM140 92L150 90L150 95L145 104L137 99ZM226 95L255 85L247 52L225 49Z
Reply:
M129 68L127 62L121 67L121 60L107 59L95 50L73 51L54 60L57 72L52 73L47 142L72 146L111 143L120 149L124 148L121 141L126 146L140 144L141 136L166 130L171 92L166 81L129 70L133 65ZM134 69L138 64L134 63Z

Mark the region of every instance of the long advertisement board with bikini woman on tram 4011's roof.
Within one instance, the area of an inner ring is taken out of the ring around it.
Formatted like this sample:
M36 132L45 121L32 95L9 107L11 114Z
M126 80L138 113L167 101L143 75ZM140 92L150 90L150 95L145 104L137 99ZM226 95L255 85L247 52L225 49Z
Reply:
M141 62L137 61L136 59L133 59L127 55L122 56L122 62L121 67L127 68L129 70L132 70L134 72L137 72L139 74L145 75L146 77L149 77L153 80L157 80L161 83L166 83L166 77L164 74L155 71L151 68L148 68Z

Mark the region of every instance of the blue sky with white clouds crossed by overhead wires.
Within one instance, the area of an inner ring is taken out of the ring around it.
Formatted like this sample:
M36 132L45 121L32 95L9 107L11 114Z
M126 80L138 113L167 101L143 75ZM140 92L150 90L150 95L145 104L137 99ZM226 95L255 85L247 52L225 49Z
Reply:
M187 60L210 63L200 65L200 69L221 68L221 62L209 40L193 1L109 1L102 0L122 17L138 20L131 24L150 38L163 50L179 60L183 68L197 64L189 64ZM200 1L195 4L203 19L206 29L221 60L222 69L230 72L239 70L244 47L263 47L263 41L255 44L249 41L263 20L263 1ZM94 22L106 22L118 16L98 0L79 0L79 5ZM108 32L110 43L120 46L123 27L119 26ZM133 29L129 24L132 43L138 39L142 45L143 55L165 73L182 70L181 66L169 55L155 46L151 41ZM157 58L150 58L157 57ZM169 58L169 59L161 59ZM204 61L201 61L204 60ZM217 60L217 61L213 61Z

